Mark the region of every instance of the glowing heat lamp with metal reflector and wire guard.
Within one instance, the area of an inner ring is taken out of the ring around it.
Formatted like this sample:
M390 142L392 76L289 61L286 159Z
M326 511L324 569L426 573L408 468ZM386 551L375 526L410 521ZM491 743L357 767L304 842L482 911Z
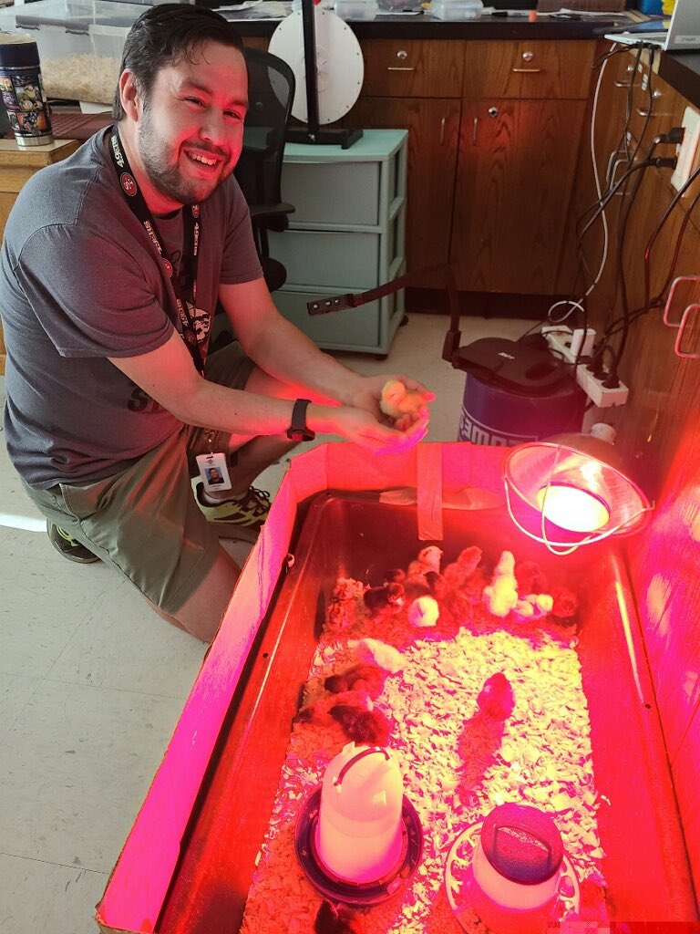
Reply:
M513 447L503 482L515 525L554 554L638 531L652 508L613 446L595 434Z

